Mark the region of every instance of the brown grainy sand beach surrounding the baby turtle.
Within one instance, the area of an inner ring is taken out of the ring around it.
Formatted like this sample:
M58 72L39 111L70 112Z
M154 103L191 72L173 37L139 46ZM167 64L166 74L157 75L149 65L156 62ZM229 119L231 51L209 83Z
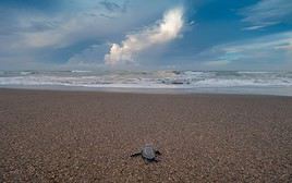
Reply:
M292 182L292 97L0 89L0 182Z

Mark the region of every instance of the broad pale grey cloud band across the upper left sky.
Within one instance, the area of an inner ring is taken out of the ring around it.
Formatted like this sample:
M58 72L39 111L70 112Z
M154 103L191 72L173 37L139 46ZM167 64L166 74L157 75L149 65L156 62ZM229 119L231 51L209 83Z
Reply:
M75 2L75 0L73 1ZM5 46L11 44L15 49L23 49L23 45L26 46L26 49L32 50L66 48L80 41L106 40L127 32L132 26L142 25L144 19L149 19L153 14L160 12L161 7L165 5L160 4L159 8L155 8L155 4L151 4L148 7L151 10L144 12L146 10L137 4L137 7L131 7L132 11L125 11L127 2L127 0L121 3L100 0L75 2L78 9L74 13L69 11L48 15L34 11L32 13L21 12L16 13L17 17L14 21L15 27L13 29L17 34L11 33L11 27L14 25L11 24L11 21L7 21L5 28L0 28L0 32L5 32L10 37L19 36L17 41L5 42ZM9 13L10 11L7 11L4 15L9 16ZM134 16L135 19L133 19Z

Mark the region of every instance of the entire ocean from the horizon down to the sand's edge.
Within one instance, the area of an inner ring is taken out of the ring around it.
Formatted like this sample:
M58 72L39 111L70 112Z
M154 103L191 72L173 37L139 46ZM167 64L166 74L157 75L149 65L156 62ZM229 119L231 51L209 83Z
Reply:
M292 72L0 71L0 87L292 96Z

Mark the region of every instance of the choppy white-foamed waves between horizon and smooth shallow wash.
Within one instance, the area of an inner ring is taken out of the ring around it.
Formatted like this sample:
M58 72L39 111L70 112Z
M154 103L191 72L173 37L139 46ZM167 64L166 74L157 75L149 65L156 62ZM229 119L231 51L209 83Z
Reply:
M292 72L1 72L0 85L123 88L291 87Z

